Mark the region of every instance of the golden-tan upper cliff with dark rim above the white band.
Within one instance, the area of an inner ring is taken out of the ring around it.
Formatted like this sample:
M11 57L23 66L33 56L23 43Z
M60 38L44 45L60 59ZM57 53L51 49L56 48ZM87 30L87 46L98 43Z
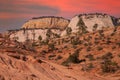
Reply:
M64 19L62 17L39 17L33 18L26 22L22 28L31 29L31 28L59 28L65 29L69 24L69 20Z

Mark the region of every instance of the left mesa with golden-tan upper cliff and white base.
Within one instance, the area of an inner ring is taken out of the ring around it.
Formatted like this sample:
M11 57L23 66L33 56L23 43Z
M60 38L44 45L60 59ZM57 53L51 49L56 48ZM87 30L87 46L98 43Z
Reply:
M62 17L39 17L33 18L23 24L22 28L19 30L9 31L10 38L17 40L19 42L24 42L26 40L37 41L39 37L42 40L48 38L59 37L62 30L64 30L69 24L69 20Z

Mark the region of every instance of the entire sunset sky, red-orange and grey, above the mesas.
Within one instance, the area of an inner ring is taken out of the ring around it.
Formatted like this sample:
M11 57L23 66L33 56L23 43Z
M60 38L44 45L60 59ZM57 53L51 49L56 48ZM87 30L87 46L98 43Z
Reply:
M18 29L32 17L81 13L107 13L120 17L120 0L0 0L0 32Z

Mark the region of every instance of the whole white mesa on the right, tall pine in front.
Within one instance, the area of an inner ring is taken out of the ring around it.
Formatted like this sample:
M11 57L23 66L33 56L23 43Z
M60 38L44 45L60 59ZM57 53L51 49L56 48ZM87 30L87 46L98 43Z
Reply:
M68 25L72 29L72 33L77 32L93 32L101 30L106 27L114 27L117 25L117 18L113 18L107 14L93 13L93 14L80 14L73 17ZM61 36L66 35L66 30Z

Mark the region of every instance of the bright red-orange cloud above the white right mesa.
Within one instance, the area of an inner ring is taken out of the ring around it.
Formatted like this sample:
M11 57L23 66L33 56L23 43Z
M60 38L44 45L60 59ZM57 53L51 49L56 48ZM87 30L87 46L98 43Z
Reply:
M35 0L34 2L36 2L36 4L60 8L60 15L85 12L103 12L115 16L119 16L120 14L120 0Z

